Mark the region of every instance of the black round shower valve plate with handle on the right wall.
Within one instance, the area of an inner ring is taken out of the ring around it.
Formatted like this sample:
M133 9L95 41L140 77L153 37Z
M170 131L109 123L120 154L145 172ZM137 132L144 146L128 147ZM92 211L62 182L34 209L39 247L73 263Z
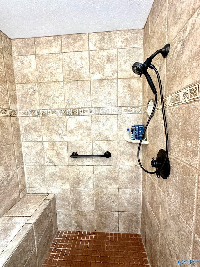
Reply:
M166 156L166 151L164 149L160 149L157 154L156 160L153 158L151 162L151 166L155 167L156 170L158 170L160 166L162 166L165 160L165 156ZM156 175L158 178L160 178L161 176L163 179L167 179L170 175L170 170L171 170L170 161L169 161L169 158L167 157L163 168L160 171L156 172Z

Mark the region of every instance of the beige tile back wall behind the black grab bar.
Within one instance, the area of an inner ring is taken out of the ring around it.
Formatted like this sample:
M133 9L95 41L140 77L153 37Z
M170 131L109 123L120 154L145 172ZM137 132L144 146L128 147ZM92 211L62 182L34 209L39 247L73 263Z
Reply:
M28 193L56 195L59 230L139 233L141 169L124 132L142 122L131 67L143 30L13 39L12 52Z

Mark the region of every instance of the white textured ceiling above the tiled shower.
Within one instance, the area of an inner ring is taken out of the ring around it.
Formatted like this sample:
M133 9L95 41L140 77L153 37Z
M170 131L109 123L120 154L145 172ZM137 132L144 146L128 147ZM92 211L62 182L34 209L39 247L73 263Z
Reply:
M0 0L10 38L144 28L153 0Z

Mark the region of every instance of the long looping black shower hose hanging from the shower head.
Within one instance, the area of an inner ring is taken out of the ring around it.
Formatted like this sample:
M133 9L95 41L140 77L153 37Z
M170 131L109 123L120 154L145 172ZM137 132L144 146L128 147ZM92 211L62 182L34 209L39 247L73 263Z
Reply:
M147 173L150 173L150 174L155 174L155 173L160 172L162 170L162 168L164 167L165 162L166 162L166 160L168 158L169 141L168 141L168 128L167 128L167 121L166 121L166 116L165 116L165 108L164 108L164 100L163 100L163 90L162 90L162 84L161 84L161 80L160 80L160 75L158 73L158 70L156 69L156 67L153 64L150 64L149 65L149 68L150 69L153 69L156 72L156 75L157 75L157 78L158 78L158 83L159 83L159 88L160 88L160 97L161 97L161 104L162 104L162 111L163 111L163 121L164 121L164 127L165 127L166 154L165 154L165 158L164 158L164 161L163 161L162 166L157 171L155 171L155 172L149 172L149 171L147 171L142 166L142 164L140 162L140 147L141 147L141 144L142 144L142 140L143 140L144 134L145 134L145 132L147 130L148 124L151 121L151 118L153 117L154 111L156 109L157 94L154 94L155 95L155 102L154 102L153 110L152 110L151 115L150 115L150 117L148 119L148 122L147 122L147 124L146 124L146 126L144 128L143 135L141 137L141 140L140 140L140 143L139 143L139 146L138 146L138 162L139 162L140 167L143 169L143 171L145 171Z

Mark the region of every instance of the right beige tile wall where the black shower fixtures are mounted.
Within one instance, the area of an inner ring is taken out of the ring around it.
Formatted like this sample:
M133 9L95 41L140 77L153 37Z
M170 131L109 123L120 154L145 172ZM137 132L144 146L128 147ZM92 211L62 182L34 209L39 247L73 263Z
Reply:
M170 43L168 57L152 62L161 76L168 100L166 117L171 173L167 180L143 172L141 234L151 266L177 266L178 259L199 259L199 82L200 1L155 0L144 28L144 59ZM149 70L158 86L155 74ZM158 95L160 95L158 93ZM153 98L143 80L143 105ZM159 98L159 96L158 96ZM143 123L147 122L143 113ZM148 170L152 157L165 149L162 111L148 128L143 162Z

